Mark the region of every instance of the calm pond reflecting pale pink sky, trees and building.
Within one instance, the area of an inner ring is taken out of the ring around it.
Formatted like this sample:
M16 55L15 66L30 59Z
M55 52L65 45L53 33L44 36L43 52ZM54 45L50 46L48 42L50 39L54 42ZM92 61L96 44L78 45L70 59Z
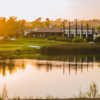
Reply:
M0 93L6 84L9 98L72 98L93 81L100 90L100 61L94 56L0 60Z

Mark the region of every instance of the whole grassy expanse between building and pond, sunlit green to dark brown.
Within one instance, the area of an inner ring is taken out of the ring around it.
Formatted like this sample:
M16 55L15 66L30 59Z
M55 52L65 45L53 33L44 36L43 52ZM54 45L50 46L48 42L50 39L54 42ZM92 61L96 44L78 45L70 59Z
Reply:
M30 46L30 47L29 47ZM35 48L31 46L40 46ZM100 44L72 43L47 39L0 40L0 57L46 59L48 55L98 55Z

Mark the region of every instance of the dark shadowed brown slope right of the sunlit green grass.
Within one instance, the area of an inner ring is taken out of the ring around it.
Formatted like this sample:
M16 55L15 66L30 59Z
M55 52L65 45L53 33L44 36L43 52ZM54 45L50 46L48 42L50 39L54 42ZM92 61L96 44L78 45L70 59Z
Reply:
M41 47L41 54L99 54L100 44L67 44Z

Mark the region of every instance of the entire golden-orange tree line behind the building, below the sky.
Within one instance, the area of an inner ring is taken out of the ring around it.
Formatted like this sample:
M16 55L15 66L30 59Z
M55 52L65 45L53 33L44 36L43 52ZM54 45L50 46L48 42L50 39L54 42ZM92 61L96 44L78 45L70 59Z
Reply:
M71 23L74 23L75 21L71 21ZM66 25L69 23L68 20L64 20L61 18L57 18L55 20L51 20L49 18L46 18L45 20L42 20L41 17L33 20L33 21L27 21L25 19L18 20L17 17L12 16L10 18L1 17L0 18L0 36L3 36L5 38L9 37L21 37L24 36L24 30L25 29L34 29L39 27L52 27L52 28L62 28L63 23ZM89 23L90 25L95 26L97 29L100 29L100 20L93 19L93 20L78 20L78 23Z

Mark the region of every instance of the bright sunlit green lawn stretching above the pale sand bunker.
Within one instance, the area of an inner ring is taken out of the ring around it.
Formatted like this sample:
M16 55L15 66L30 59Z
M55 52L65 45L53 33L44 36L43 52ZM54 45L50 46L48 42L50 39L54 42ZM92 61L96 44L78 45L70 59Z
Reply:
M66 44L66 42L53 41L47 39L25 39L19 38L17 40L2 40L0 41L0 51L14 51L14 50L23 50L30 49L28 45L34 46L50 46L55 44Z

